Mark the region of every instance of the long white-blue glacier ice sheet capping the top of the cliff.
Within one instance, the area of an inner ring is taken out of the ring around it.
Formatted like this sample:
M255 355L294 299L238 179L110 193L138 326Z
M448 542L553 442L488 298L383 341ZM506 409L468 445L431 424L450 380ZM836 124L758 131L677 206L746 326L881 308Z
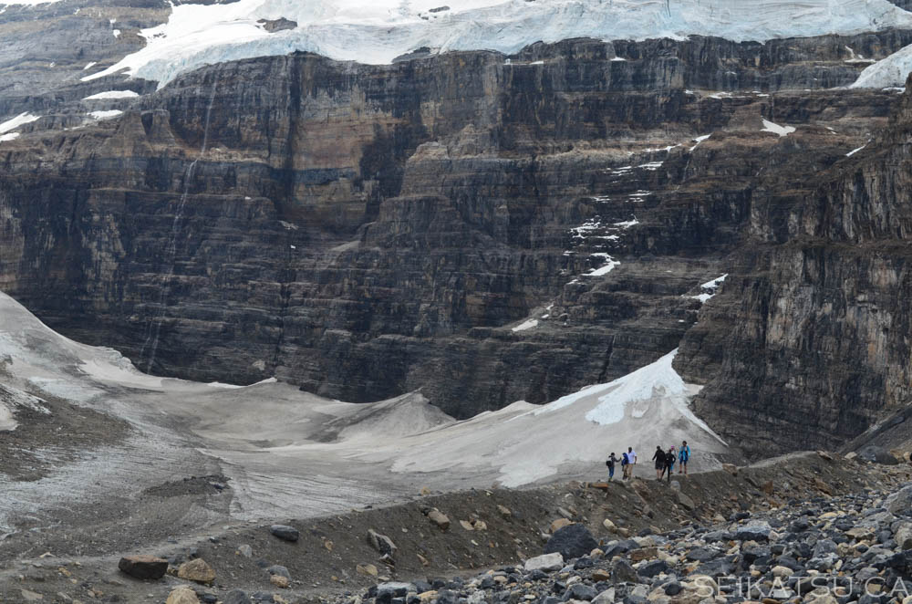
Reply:
M260 19L286 18L269 33ZM912 27L888 0L240 0L175 5L146 47L83 80L126 70L164 86L183 71L295 50L387 64L422 47L514 53L537 41L721 36L735 41Z

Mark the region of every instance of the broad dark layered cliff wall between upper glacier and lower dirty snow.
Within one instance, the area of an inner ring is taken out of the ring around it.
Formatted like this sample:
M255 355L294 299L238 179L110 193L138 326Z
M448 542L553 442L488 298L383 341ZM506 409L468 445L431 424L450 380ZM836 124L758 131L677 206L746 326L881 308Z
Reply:
M571 40L374 67L298 54L157 92L130 82L134 99L80 100L119 77L16 97L43 113L0 142L0 287L143 370L276 375L352 401L421 389L460 417L611 380L684 338L679 364L732 434L750 415L790 447L800 409L830 441L864 430L904 375L855 362L883 327L869 301L851 323L821 314L830 286L843 313L902 278L879 253L842 256L874 245L857 238L884 215L852 196L896 186L872 153L902 146L846 153L900 97L834 87L866 66L855 53L909 43ZM880 338L898 360L894 329ZM823 341L840 365L814 356Z

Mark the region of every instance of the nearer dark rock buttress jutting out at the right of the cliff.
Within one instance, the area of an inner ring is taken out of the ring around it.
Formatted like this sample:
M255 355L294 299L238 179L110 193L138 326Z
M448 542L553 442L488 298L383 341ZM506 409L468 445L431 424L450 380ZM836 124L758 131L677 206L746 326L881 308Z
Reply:
M734 256L684 340L700 410L754 453L842 443L908 404L909 107L790 204L782 237Z

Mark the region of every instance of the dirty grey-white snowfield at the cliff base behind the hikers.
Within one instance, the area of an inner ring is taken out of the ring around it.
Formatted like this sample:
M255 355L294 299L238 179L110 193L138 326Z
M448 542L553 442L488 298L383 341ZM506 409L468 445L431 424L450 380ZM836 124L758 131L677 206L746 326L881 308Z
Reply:
M674 354L548 405L519 401L456 421L420 393L355 404L275 380L239 388L145 375L115 350L60 336L0 294L0 430L18 429L25 407L53 412L49 397L134 428L126 442L99 444L40 480L0 474L0 533L10 514L212 472L231 480L232 517L259 520L391 503L423 486L602 479L612 451L646 453L684 439L693 469L714 469L728 447L689 410L699 387L680 379ZM638 467L650 474L648 463Z

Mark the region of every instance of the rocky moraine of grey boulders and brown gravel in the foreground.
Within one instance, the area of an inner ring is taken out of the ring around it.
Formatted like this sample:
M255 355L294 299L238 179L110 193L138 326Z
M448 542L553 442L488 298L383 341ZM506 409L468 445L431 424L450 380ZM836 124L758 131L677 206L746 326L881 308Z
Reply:
M904 592L912 466L900 459L800 453L671 483L426 492L342 515L212 527L122 556L68 554L74 528L59 526L7 558L0 595L169 604L912 601Z

